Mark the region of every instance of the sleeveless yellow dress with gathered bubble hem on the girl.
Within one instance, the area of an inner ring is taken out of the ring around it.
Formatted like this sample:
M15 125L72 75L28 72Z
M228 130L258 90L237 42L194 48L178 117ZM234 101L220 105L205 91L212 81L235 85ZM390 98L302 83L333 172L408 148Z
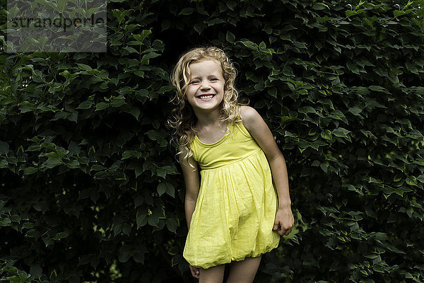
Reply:
M200 167L200 190L183 256L204 269L255 258L278 247L273 231L278 207L264 151L245 126L230 125L225 136L190 145Z

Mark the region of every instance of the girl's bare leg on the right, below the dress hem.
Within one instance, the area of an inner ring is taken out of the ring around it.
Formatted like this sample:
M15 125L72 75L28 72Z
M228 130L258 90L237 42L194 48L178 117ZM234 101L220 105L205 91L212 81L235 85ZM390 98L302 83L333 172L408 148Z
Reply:
M261 257L231 262L227 283L252 283L261 263Z

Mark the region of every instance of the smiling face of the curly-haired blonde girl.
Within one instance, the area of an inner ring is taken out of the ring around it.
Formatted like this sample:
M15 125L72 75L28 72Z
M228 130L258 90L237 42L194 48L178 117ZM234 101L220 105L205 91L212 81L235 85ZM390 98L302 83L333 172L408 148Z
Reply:
M215 59L204 59L189 65L190 81L187 100L194 111L211 111L219 107L224 97L223 70Z

